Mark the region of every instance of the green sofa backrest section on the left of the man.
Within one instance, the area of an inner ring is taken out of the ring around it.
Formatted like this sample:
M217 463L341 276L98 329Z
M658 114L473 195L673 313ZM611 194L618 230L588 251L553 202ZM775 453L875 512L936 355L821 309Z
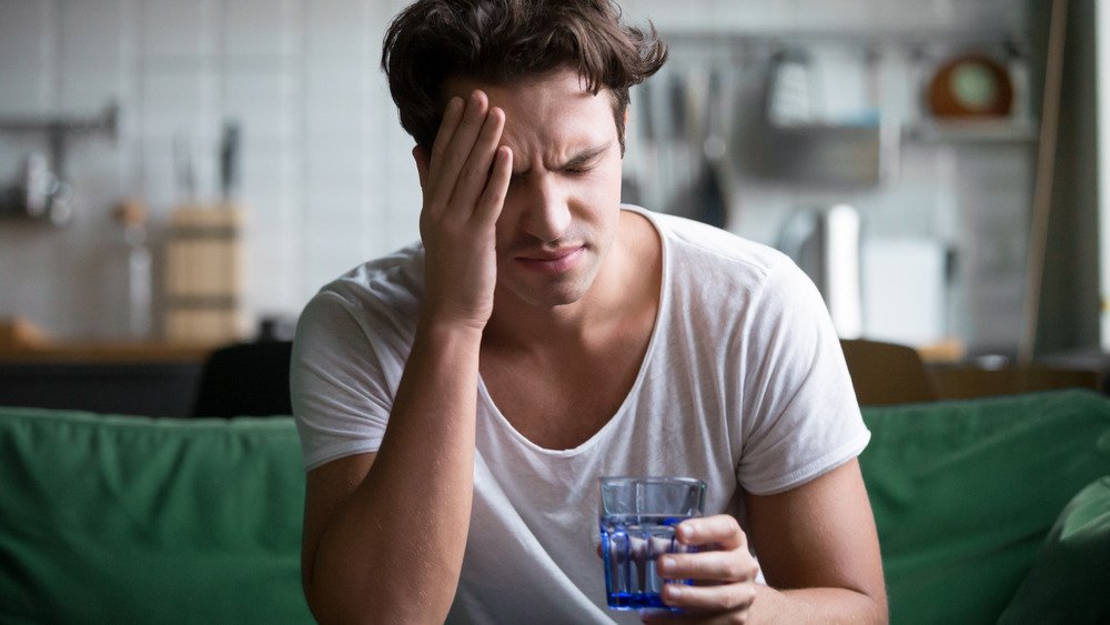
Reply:
M0 409L0 622L311 623L289 417Z

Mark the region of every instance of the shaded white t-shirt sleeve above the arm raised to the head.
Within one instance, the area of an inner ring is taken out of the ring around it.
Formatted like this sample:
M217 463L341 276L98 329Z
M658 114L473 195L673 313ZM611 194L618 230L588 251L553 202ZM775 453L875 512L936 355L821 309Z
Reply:
M331 291L314 296L297 320L290 395L305 471L381 446L400 356L375 335L379 327L387 324Z

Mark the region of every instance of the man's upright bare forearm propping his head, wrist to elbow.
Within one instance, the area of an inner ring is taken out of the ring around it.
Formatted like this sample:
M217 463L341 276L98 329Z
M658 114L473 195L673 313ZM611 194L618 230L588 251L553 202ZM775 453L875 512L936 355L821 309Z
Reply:
M321 533L321 621L442 621L470 523L481 331L422 324L365 480Z

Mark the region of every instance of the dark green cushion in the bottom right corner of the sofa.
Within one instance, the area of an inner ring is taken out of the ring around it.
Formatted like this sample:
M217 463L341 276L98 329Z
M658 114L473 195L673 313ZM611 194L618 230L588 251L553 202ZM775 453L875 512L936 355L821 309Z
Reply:
M1110 623L1108 588L1110 475L1068 503L999 622Z

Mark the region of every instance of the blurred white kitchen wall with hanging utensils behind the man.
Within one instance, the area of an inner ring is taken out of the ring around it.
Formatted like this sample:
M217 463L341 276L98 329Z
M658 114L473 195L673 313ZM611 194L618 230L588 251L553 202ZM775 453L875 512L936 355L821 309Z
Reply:
M414 240L412 141L377 67L405 3L0 0L0 317L165 336L173 244L216 232L242 253L220 293L241 335L280 334L323 283ZM791 252L845 336L1017 353L1049 0L622 6L673 46L633 92L627 200ZM1039 353L1099 346L1094 12L1069 11ZM928 88L967 53L1012 103L946 122ZM242 223L173 221L221 203Z

